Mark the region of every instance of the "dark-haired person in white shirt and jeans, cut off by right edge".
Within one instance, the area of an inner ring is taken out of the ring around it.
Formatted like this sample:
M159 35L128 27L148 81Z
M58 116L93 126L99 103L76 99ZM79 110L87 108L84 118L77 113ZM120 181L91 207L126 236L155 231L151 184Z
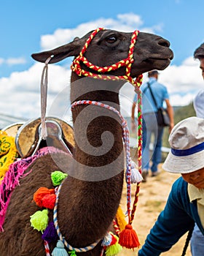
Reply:
M204 79L204 43L201 44L194 52L194 58L200 61L200 69ZM204 89L199 91L193 100L193 105L197 117L204 118ZM204 236L200 232L199 227L195 223L194 230L192 232L192 238L190 241L192 255L203 256L204 255Z

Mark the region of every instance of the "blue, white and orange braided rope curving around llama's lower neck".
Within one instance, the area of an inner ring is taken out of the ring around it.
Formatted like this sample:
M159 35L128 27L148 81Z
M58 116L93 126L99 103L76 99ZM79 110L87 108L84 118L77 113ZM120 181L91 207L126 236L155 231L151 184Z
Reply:
M63 242L63 244L71 251L75 251L75 252L87 252L90 251L91 249L93 249L99 241L101 241L100 239L98 241L96 241L93 244L90 244L89 246L85 246L85 247L80 247L80 248L76 248L71 246L70 244L68 244L68 242L65 240L65 238L62 236L62 234L60 233L60 227L58 225L58 199L59 199L59 195L60 195L60 189L63 183L60 184L60 186L58 187L58 189L55 190L56 192L56 201L55 201L55 207L54 207L54 211L53 211L53 221L55 224L55 229L57 230L58 236L60 238L60 241Z

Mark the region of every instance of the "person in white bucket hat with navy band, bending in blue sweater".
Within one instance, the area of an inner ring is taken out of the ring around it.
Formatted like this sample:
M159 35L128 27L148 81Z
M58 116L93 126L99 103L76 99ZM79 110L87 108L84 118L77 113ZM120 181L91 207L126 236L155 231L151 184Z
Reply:
M170 152L163 169L181 173L181 177L173 183L165 208L138 251L139 256L168 251L195 223L204 235L203 138L204 119L197 116L178 122L170 132Z

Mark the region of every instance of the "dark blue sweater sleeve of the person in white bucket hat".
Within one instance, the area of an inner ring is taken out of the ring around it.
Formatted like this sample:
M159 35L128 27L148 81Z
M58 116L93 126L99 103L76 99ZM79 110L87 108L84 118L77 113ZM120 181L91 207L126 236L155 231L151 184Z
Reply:
M165 209L150 230L138 256L158 256L168 251L195 225L191 213L187 183L182 178L178 178L173 184Z

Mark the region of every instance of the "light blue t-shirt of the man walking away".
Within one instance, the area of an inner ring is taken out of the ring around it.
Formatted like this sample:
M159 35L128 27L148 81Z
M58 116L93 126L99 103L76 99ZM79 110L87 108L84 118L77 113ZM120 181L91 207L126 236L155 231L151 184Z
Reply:
M157 108L163 106L163 102L165 99L169 99L168 91L164 85L157 82L156 78L149 78L149 84L152 89L152 93L154 94L154 98L157 102ZM152 99L152 95L149 91L147 83L141 85L142 91L142 112L143 113L153 113L157 112L157 108ZM137 102L137 94L134 97L134 102Z

